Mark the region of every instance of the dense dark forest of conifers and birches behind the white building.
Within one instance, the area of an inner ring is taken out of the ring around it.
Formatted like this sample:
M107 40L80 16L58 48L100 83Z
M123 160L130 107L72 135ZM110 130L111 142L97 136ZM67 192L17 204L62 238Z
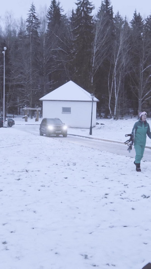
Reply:
M75 4L68 16L57 0L39 14L32 3L26 20L8 13L0 26L1 116L4 71L6 115L41 106L39 98L69 80L95 94L105 118L151 113L151 15L135 10L128 22L110 0L94 15L93 2Z

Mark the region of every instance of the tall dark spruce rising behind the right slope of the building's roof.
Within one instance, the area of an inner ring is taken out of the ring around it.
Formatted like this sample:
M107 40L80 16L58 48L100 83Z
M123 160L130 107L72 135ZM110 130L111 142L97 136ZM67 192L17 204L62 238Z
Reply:
M94 6L88 0L77 0L77 9L72 17L74 73L72 79L91 91L91 58L93 45Z

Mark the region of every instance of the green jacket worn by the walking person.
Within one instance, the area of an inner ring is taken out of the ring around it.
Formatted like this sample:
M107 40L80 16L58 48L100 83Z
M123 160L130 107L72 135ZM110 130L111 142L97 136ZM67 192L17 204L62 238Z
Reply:
M145 146L146 135L151 139L149 124L146 121L142 122L139 119L138 122L135 122L133 126L132 134L134 137L134 145L139 144L141 146Z

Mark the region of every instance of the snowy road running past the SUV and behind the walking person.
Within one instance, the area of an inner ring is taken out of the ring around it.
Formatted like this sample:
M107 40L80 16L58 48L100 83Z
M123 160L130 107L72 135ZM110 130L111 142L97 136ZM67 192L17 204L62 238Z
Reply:
M15 128L39 136L39 125L16 125ZM109 141L104 141L101 139L93 139L93 137L85 138L78 135L74 136L74 135L69 135L69 134L66 138L63 138L62 136L60 137L52 136L50 137L50 139L51 138L60 139L60 140L63 139L63 141L66 141L67 143L72 143L72 144L81 145L84 147L89 147L89 148L93 148L93 149L97 149L101 151L115 153L118 155L125 155L132 158L135 156L134 148L129 153L129 151L127 150L128 146L118 141L109 142ZM150 156L151 156L151 149L145 148L143 159L150 161L151 160Z

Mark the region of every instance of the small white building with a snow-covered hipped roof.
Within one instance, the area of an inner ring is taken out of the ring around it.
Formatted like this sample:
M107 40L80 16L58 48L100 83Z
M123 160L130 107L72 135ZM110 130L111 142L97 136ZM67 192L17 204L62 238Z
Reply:
M96 126L97 98L72 81L46 94L43 102L43 118L59 118L68 127L90 128ZM93 113L92 113L93 103Z

